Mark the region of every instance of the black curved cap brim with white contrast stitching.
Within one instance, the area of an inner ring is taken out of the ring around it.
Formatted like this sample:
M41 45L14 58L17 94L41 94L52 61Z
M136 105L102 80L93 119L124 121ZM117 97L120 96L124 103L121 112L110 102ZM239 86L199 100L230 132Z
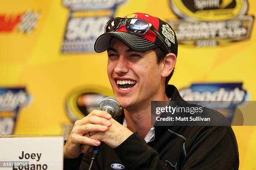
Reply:
M128 47L135 51L143 52L158 47L153 42L129 32L106 32L97 38L94 44L94 50L96 52L104 52L105 50L108 50L111 37L113 36L117 37L119 40L121 40Z

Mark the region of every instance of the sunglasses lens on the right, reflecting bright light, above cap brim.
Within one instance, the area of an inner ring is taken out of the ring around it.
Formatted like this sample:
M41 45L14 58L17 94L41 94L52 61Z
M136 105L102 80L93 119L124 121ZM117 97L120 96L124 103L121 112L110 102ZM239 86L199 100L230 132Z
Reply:
M149 28L146 21L140 20L138 18L131 18L126 20L126 29L129 32L136 34L145 34Z

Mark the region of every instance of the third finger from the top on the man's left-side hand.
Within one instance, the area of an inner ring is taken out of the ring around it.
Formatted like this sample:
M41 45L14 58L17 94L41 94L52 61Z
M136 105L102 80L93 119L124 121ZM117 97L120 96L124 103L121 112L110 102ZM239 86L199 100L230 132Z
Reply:
M106 130L108 130L108 126L88 123L82 126L74 127L73 131L79 134L86 134L90 132L105 132Z

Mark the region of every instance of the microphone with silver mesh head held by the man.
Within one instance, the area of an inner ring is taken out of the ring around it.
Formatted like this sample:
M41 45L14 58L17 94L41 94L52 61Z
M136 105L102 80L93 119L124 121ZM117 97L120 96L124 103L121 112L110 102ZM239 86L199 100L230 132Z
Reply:
M112 117L119 111L119 102L115 97L105 97L100 102L100 110L108 112ZM97 158L100 153L100 146L94 146L92 148L92 158L89 170L92 168L93 161Z

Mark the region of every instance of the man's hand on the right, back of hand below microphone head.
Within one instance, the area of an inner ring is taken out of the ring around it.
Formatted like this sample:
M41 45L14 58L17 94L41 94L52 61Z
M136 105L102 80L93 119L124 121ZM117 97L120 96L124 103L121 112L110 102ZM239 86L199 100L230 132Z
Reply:
M108 128L107 131L94 133L90 139L100 140L111 148L116 148L130 135L132 135L133 132L112 118L110 121L112 122L112 125Z

